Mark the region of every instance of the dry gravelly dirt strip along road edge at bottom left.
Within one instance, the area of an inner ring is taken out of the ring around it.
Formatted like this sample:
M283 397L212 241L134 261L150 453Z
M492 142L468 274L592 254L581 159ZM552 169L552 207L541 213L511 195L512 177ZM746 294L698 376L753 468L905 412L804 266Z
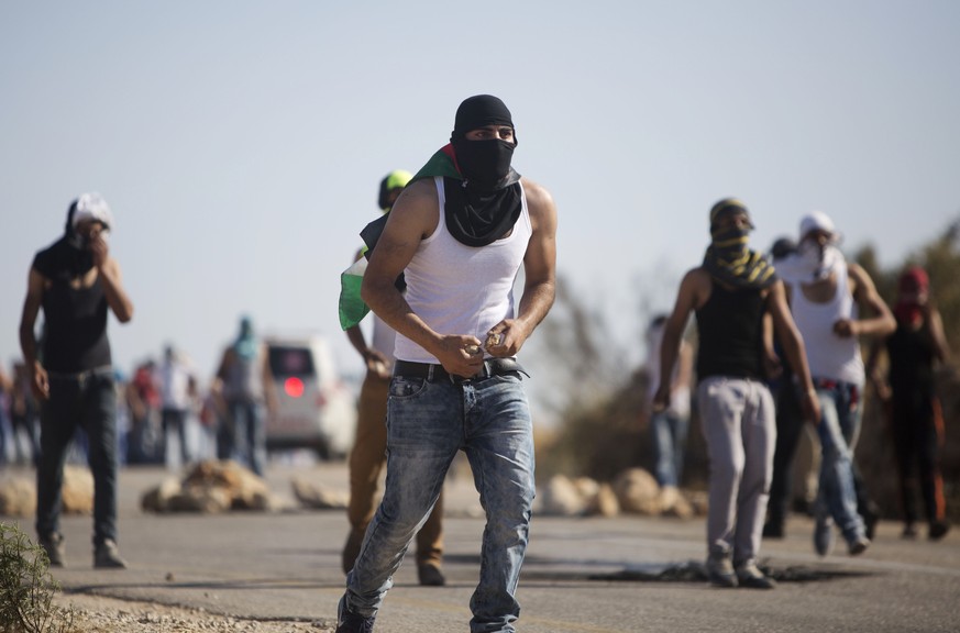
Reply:
M73 610L70 633L332 633L329 622L262 621L216 615L150 602L131 602L86 593L59 595L58 607Z

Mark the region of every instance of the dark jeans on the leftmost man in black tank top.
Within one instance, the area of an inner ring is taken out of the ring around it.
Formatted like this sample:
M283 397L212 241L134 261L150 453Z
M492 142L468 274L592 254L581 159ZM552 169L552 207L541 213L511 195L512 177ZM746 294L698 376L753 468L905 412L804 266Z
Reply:
M93 544L117 541L117 395L110 368L51 375L41 407L36 469L36 532L59 532L64 462L77 427L87 433L93 475Z

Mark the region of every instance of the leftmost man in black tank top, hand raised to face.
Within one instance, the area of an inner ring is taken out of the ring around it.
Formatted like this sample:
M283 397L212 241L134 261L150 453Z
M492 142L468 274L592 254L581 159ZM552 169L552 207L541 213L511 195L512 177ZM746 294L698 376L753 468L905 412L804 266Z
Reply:
M113 215L98 193L70 204L64 236L33 259L20 321L23 359L41 402L36 531L55 567L65 565L60 490L77 429L86 431L93 475L93 566L126 567L117 545L117 397L107 322L111 312L129 322L133 303L107 244L112 227Z

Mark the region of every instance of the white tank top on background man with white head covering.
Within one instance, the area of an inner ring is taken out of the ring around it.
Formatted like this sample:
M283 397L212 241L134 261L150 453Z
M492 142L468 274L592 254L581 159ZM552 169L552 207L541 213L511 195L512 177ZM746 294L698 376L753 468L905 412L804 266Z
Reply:
M804 337L807 363L814 378L863 385L863 358L856 336L842 338L834 333L838 319L857 319L857 303L847 280L847 264L837 269L837 292L826 303L809 301L799 288L791 286L793 320Z

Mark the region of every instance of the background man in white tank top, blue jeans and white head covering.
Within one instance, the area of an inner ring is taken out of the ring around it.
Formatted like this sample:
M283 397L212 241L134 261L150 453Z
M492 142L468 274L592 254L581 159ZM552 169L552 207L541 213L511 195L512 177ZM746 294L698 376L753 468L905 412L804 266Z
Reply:
M797 253L777 270L788 285L791 310L806 344L823 412L817 426L823 458L814 548L820 556L830 553L836 522L848 552L857 555L870 545L857 511L853 475L864 382L859 336L886 336L896 321L867 271L840 253L837 231L826 213L806 215L799 238ZM859 318L858 304L869 307L875 316Z

